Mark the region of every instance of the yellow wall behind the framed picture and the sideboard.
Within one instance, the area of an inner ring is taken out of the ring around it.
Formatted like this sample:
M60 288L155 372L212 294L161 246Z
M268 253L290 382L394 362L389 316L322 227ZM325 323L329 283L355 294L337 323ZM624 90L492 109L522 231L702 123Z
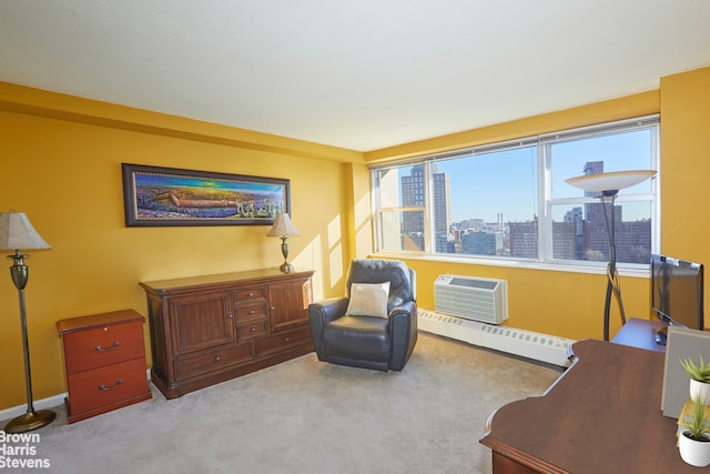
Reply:
M120 121L106 120L112 111ZM27 213L52 245L27 260L34 399L65 391L58 320L125 307L145 315L140 281L283 260L281 241L266 238L264 225L125 228L122 162L290 179L302 234L288 241L290 260L317 270L316 297L342 291L354 226L344 190L353 167L364 167L361 153L2 83L0 130L0 209ZM26 394L18 294L9 271L1 276L4 409ZM146 347L148 333L146 325Z

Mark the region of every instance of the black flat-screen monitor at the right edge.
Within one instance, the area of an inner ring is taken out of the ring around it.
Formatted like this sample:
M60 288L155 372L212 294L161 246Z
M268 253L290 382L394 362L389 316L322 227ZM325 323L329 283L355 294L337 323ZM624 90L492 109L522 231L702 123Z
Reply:
M704 329L702 310L702 264L651 255L651 311L659 320L691 330ZM666 343L667 327L656 334Z

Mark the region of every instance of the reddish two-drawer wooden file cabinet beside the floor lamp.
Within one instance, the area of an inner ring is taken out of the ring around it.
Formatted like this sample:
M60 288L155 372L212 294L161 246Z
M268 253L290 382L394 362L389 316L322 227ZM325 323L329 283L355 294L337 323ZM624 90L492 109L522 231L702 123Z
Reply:
M144 319L133 310L57 322L67 370L67 422L151 399Z

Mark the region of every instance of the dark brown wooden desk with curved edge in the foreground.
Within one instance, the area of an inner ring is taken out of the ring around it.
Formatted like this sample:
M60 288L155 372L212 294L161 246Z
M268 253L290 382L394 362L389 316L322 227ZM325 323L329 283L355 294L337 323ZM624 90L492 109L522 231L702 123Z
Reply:
M661 414L665 355L602 341L571 347L575 362L544 396L490 415L480 443L494 474L698 473Z

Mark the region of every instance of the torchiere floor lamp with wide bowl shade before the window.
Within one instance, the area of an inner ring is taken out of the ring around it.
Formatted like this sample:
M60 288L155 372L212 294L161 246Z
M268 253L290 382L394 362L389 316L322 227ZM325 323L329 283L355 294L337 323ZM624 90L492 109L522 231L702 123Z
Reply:
M639 184L656 174L655 170L630 170L630 171L611 171L607 173L591 173L581 177L569 178L565 180L575 188L582 189L588 192L600 193L601 203L605 199L611 200L611 218L607 219L607 210L604 209L607 233L609 235L609 263L607 264L607 295L604 305L604 340L609 341L609 313L611 310L611 295L613 294L621 313L621 324L626 324L626 314L623 312L623 302L621 301L621 289L619 286L619 274L617 272L617 245L615 238L615 201L619 190Z

